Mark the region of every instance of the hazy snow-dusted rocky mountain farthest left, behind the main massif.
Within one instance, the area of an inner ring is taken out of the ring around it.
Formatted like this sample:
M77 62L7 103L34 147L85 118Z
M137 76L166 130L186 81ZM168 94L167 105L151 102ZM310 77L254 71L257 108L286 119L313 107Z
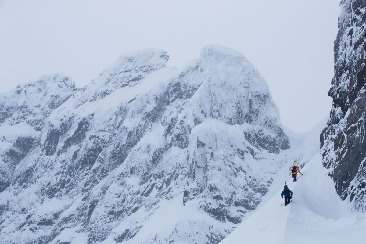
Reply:
M71 78L53 75L0 94L0 192L37 144L45 119L75 91Z

